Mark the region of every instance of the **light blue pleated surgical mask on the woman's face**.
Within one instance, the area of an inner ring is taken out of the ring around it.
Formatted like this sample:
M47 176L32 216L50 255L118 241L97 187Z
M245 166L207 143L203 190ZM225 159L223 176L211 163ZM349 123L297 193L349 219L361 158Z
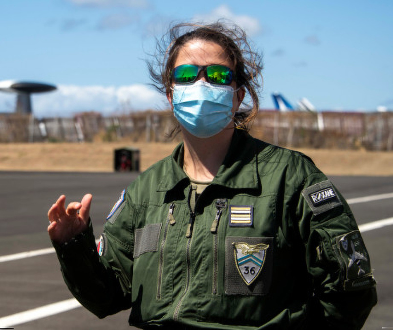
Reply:
M175 85L172 104L178 122L197 137L221 132L232 120L234 90L198 80L192 85Z

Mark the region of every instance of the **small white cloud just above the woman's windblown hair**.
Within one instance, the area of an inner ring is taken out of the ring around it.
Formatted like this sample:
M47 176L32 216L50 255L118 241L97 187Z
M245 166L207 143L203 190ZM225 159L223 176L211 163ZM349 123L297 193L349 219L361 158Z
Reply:
M249 35L255 35L262 30L260 22L256 18L247 15L236 15L226 4L220 5L208 14L196 15L193 21L215 22L219 19L226 19L235 22Z

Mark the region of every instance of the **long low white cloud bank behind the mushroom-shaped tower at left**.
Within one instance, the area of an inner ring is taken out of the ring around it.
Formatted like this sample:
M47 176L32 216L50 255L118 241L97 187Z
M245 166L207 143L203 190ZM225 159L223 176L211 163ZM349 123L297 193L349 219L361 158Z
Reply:
M12 112L15 94L0 93L0 112ZM130 86L75 86L59 85L49 93L34 94L32 107L37 117L69 117L81 111L99 111L104 116L119 111L168 109L164 95L146 85Z

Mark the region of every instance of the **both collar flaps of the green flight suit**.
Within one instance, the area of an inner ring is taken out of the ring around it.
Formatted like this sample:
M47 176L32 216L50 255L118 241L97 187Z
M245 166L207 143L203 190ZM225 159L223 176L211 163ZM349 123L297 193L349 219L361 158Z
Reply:
M188 176L183 171L184 145L176 146L169 162L168 175L162 178L157 186L157 191L169 191L181 182L189 182ZM236 129L218 173L212 184L233 189L258 189L257 147L255 140L242 130Z

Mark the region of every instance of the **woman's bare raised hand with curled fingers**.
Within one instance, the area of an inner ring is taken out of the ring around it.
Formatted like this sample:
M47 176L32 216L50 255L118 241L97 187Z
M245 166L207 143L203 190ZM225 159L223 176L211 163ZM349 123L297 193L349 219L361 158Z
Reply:
M52 241L68 242L87 229L92 198L86 194L81 202L71 202L66 208L66 196L59 197L48 211L48 233Z

